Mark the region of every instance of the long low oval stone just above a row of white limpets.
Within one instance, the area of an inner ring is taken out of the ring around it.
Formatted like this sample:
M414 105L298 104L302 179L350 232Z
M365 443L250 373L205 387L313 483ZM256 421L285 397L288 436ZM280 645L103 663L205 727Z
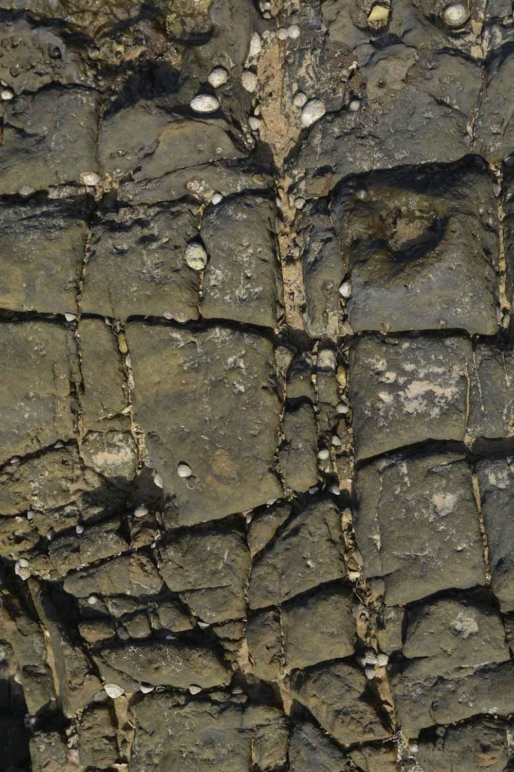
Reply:
M197 684L203 689L212 689L227 686L231 678L227 665L204 645L133 641L124 645L107 644L102 647L101 656L120 674L154 686L187 689L190 684Z

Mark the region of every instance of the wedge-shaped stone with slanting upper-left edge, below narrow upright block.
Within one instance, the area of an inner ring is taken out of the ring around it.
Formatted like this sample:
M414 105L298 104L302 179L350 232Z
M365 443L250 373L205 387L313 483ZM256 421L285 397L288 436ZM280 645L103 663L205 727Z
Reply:
M346 574L341 556L341 520L331 501L311 503L288 520L252 567L250 608L264 608Z

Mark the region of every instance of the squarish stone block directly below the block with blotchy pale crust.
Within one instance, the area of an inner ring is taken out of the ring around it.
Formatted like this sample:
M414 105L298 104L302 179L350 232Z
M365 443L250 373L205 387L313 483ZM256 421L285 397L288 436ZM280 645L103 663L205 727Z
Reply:
M354 529L366 577L405 604L485 584L471 470L457 453L410 453L358 470Z

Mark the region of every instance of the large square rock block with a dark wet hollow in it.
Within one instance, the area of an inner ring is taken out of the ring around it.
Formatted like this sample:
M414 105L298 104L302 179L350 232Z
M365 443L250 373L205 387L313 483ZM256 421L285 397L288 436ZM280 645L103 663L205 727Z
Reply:
M479 171L379 172L331 206L362 330L498 330L496 199Z

